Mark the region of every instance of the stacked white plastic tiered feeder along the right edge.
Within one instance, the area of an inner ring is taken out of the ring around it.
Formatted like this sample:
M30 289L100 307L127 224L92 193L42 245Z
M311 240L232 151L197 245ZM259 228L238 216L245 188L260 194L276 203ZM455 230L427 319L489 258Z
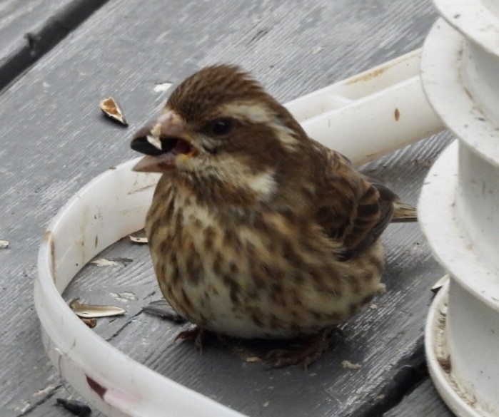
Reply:
M458 136L428 173L419 218L450 282L425 330L430 376L458 416L499 416L499 4L435 0L425 93Z

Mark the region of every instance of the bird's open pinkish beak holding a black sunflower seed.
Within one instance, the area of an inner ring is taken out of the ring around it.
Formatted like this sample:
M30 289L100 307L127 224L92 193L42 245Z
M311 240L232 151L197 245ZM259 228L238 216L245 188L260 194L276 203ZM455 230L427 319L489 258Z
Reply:
M163 173L197 153L183 120L169 109L158 117L152 128L139 130L130 145L133 150L146 154L133 167L134 171L144 173Z

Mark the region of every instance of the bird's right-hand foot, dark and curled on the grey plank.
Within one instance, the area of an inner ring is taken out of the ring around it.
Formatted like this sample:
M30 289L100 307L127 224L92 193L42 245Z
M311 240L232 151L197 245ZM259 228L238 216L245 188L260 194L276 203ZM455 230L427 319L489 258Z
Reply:
M330 334L331 329L323 330L311 336L300 349L273 349L266 354L265 360L272 368L285 368L303 363L307 369L328 349Z

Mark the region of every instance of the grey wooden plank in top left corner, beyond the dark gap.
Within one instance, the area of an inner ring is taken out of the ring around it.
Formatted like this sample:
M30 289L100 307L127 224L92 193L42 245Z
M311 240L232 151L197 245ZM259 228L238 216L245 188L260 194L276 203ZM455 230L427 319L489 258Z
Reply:
M106 1L1 1L0 89L36 62Z

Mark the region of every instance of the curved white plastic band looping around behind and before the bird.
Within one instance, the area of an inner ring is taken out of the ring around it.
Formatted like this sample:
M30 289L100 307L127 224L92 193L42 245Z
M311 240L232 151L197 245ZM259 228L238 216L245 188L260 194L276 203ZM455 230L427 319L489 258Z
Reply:
M288 108L311 136L356 163L367 162L442 130L420 85L419 58L414 51ZM61 297L86 262L143 227L158 175L132 172L135 163L89 182L44 235L34 296L46 351L64 379L107 416L241 416L133 361L83 324Z

